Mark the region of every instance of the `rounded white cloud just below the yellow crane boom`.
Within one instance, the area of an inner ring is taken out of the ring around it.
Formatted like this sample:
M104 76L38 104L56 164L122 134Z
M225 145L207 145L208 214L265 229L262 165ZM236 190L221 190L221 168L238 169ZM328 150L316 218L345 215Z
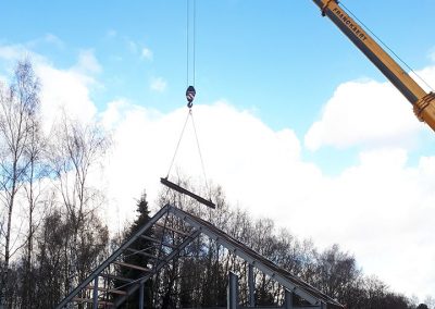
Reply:
M311 150L323 146L409 145L425 129L412 106L390 84L348 82L341 84L308 131L304 143Z

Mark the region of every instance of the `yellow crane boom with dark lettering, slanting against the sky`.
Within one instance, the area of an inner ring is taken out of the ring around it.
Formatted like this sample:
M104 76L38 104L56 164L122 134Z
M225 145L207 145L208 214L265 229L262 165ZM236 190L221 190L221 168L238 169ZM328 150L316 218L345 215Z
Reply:
M353 21L337 0L313 0L327 16L413 106L420 121L435 131L435 94L426 92L386 51Z

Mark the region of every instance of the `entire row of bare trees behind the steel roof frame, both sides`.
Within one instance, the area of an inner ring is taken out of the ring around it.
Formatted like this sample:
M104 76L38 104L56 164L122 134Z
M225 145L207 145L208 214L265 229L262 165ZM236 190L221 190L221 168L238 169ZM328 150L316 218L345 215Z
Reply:
M9 85L0 84L0 308L55 307L149 220L144 194L136 220L122 235L110 235L99 212L104 194L89 182L111 147L110 136L97 123L85 124L66 114L44 129L40 87L29 61L17 63ZM338 245L319 250L313 242L276 228L269 219L253 220L231 207L222 188L214 187L212 195L216 210L200 208L176 193L162 193L156 208L172 202L208 220L348 308L435 308L432 298L427 306L418 305L375 276L364 275L355 257ZM169 224L184 228L177 220ZM152 228L149 236L158 233ZM138 245L149 245L142 242ZM137 256L124 260L149 262ZM147 282L147 308L224 307L229 270L240 274L240 302L247 304L246 262L200 236ZM140 276L138 271L119 272L124 277ZM284 289L273 279L256 271L254 282L258 305L283 301ZM137 308L135 297L125 307Z

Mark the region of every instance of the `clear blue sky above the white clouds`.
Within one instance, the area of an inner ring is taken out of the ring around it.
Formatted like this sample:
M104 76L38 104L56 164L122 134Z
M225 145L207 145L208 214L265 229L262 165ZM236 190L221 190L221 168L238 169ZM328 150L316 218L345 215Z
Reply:
M414 5L405 0L359 2L344 3L412 67L431 63L433 1ZM163 112L184 103L186 1L13 1L3 5L0 42L30 45L58 67L73 65L82 50L92 51L103 67L98 77L103 86L91 90L100 109L117 97ZM275 129L291 126L301 136L337 85L358 78L384 81L321 17L312 1L198 1L196 22L197 103L225 98L254 111ZM44 40L47 35L53 39ZM142 57L144 48L152 52L152 59ZM149 88L158 78L165 82L165 91ZM338 162L351 160L341 151L335 154L340 157ZM307 156L323 161L323 156Z

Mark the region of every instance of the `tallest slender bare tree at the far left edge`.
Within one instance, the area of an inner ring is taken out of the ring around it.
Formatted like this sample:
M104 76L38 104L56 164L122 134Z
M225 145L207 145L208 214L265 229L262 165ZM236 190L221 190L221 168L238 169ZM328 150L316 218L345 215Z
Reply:
M0 87L0 196L5 210L4 254L0 279L0 307L4 301L5 283L9 281L11 257L17 248L12 246L12 221L17 193L23 185L28 158L25 156L34 127L34 118L39 104L39 83L29 61L18 62L10 87ZM9 305L11 307L11 305Z

